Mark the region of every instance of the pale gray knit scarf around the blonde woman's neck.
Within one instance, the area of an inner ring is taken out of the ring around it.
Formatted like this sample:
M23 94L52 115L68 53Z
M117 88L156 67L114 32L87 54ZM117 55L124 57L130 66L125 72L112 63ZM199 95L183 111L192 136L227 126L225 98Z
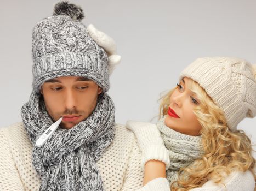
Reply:
M166 116L157 123L164 145L169 151L170 166L166 171L167 180L172 184L178 180L180 168L189 166L201 157L201 136L185 135L169 128L164 123Z

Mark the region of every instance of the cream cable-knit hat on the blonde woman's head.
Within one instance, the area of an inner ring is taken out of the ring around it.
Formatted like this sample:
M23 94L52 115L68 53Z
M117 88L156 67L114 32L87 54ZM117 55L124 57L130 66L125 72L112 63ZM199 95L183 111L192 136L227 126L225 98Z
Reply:
M243 118L256 115L255 65L232 57L198 58L180 74L196 81L224 111L227 126L236 130Z

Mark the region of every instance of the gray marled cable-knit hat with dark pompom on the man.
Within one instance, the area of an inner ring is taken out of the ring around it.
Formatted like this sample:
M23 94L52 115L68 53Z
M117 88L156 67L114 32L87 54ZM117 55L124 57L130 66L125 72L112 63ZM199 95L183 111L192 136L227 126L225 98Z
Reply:
M59 2L54 16L38 22L32 35L33 89L60 76L84 76L95 81L103 92L109 89L107 54L90 37L83 10L74 4Z

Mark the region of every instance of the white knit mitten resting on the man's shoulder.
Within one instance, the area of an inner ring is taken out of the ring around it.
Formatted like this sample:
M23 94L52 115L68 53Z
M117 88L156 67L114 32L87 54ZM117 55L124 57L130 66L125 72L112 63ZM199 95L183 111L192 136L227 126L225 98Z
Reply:
M160 160L166 164L166 170L170 165L170 158L167 148L155 124L127 121L127 129L134 132L142 153L141 164L144 170L145 163L149 160Z

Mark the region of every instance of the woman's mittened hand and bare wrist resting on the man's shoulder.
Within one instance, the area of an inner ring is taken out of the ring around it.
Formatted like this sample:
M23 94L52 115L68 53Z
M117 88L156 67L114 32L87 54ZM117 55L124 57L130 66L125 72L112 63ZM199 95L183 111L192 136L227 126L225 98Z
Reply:
M141 150L141 167L144 169L144 184L166 177L169 168L169 153L155 124L128 121L126 127L132 130Z

